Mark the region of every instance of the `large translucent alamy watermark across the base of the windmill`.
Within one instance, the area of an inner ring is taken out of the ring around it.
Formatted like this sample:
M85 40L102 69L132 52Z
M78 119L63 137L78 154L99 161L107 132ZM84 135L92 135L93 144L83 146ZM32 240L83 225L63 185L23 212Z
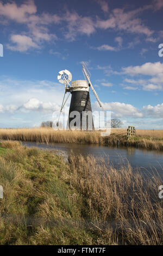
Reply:
M100 130L101 136L109 136L111 133L111 112L110 111L72 111L67 114L60 114L60 121L57 125L58 112L53 113L53 129L56 130ZM68 121L67 121L68 120Z

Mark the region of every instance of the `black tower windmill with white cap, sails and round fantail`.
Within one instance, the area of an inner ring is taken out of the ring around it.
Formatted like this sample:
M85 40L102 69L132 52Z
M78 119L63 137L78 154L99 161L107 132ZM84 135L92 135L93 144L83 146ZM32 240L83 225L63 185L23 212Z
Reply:
M90 87L93 91L93 94L96 97L96 100L99 104L99 107L104 108L102 106L101 101L92 86L90 81L91 74L87 69L86 64L83 62L83 75L85 80L77 80L72 81L72 74L68 70L62 70L59 72L58 81L62 84L65 84L65 94L64 99L62 100L62 105L60 109L60 114L62 109L65 106L65 103L68 97L71 96L70 110L68 114L68 122L67 126L71 129L72 123L73 127L75 126L77 130L94 130L93 118L92 118L92 108L90 101ZM70 85L71 82L71 85ZM68 93L68 96L65 99L65 95ZM60 118L59 114L59 118ZM74 116L76 118L74 118ZM59 126L59 119L57 126Z

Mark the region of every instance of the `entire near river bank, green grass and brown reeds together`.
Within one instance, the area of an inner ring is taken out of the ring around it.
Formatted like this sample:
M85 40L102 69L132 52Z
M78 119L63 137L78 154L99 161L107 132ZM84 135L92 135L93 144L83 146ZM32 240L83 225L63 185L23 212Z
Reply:
M156 174L103 158L0 144L1 245L161 245Z

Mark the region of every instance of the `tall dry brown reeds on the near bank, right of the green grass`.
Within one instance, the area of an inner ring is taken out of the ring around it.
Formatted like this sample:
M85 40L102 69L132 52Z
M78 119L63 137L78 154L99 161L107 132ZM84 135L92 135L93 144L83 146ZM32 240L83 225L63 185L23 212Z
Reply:
M118 245L162 245L159 175L134 173L129 163L117 170L91 156L71 156L70 163L66 181L87 198L86 216L101 230L105 241Z

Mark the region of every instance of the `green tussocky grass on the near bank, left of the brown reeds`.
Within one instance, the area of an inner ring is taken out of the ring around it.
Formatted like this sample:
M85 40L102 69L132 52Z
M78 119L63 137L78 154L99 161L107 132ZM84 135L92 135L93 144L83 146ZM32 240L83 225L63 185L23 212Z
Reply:
M89 245L84 197L65 182L62 157L19 143L0 148L0 245ZM9 146L9 148L8 148Z

